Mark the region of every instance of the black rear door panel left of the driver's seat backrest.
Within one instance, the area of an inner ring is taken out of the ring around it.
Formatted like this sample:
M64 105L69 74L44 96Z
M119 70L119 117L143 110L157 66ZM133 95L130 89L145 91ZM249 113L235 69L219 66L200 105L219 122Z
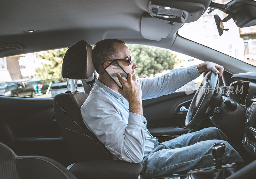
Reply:
M18 155L46 156L65 166L71 163L55 120L53 98L0 96L0 100L0 141Z

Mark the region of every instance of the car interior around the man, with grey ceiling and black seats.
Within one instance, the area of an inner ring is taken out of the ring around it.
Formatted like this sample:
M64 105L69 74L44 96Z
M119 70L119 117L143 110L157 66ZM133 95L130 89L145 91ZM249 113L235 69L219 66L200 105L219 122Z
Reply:
M220 161L215 166L155 178L256 177L256 66L178 33L183 25L213 10L227 14L223 20L214 17L220 35L226 33L222 22L234 21L239 28L254 26L256 1L15 0L1 2L0 9L0 58L68 48L61 68L67 81L65 91L49 98L0 95L1 179L142 178L142 165L115 160L81 116L80 107L97 77L92 46L102 39L161 47L225 68L221 78L204 72L200 88L189 94L175 91L143 100L143 114L149 132L159 142L217 127L244 162L222 165L223 146L213 147L212 160ZM75 89L71 91L73 79ZM77 79L84 92L79 91ZM243 90L231 93L235 88ZM209 89L214 90L207 92ZM31 90L30 96L35 95Z

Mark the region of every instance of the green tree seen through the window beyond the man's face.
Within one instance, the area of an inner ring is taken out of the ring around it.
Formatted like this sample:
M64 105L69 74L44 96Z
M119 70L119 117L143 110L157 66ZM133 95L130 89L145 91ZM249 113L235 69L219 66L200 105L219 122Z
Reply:
M179 63L176 54L167 49L143 45L127 46L132 52L132 60L138 65L136 73L140 78L156 75L164 69L173 69L174 65Z

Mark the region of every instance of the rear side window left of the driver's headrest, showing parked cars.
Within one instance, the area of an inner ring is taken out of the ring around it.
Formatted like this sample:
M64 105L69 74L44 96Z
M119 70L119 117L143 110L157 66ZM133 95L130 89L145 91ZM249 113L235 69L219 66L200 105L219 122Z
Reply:
M61 77L62 60L67 49L15 55L1 58L0 95L15 97L54 97L67 91L67 79ZM81 79L78 91L84 92ZM69 79L75 91L75 79Z

